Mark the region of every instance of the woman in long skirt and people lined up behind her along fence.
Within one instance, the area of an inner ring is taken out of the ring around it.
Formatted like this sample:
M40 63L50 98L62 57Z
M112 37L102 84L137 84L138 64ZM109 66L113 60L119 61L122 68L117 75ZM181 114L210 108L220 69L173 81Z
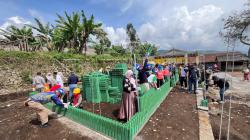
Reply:
M138 106L138 94L139 84L146 87L146 91L150 88L159 90L160 87L171 78L175 78L176 65L156 64L152 67L148 64L148 59L144 61L144 64L138 66L138 77L135 77L135 73L132 70L128 70L125 74L123 81L123 94L122 102L119 111L118 118L120 120L128 121L139 110ZM136 81L136 79L138 79Z

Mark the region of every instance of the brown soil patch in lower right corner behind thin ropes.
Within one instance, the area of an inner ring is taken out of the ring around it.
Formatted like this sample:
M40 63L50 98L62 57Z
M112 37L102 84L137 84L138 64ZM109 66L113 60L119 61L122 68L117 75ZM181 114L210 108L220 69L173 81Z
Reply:
M221 109L221 104L215 106ZM227 139L228 126L228 109L229 102L224 105L223 125L221 140ZM220 131L220 113L210 114L210 122L212 125L215 139L219 139ZM249 140L250 139L250 108L243 104L232 104L231 112L231 126L230 126L231 140Z

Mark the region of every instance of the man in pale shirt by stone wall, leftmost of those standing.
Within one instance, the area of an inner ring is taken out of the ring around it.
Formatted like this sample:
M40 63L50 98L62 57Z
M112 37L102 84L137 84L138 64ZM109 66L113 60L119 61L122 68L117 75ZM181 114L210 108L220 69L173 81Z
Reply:
M33 78L33 91L42 92L44 84L45 79L41 76L41 72L37 72L36 76Z

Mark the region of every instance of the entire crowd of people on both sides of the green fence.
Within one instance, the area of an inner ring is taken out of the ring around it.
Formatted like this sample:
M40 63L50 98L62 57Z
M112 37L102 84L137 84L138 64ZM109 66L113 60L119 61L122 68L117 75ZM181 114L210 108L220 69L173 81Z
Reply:
M147 92L150 88L160 90L161 86L169 80L176 78L176 70L178 69L179 81L181 88L188 90L188 93L196 93L198 83L204 83L206 91L210 81L220 88L220 99L224 101L224 92L229 88L229 83L223 78L212 76L212 69L199 68L197 65L175 65L156 64L154 66L148 64L148 59L144 64L137 68L138 77L132 70L128 70L123 81L123 94L121 106L118 114L120 120L128 121L139 110L138 95L140 92L140 85L146 87ZM138 80L137 80L138 79ZM175 79L176 80L176 79ZM48 73L46 78L43 78L38 72L33 79L33 87L38 94L31 96L25 105L31 108L38 109L38 118L41 120L41 127L46 127L48 123L48 112L42 104L50 101L57 106L67 108L69 104L73 107L79 107L82 102L82 95L80 88L78 88L79 79L74 72L71 72L68 77L67 84L63 82L62 73Z

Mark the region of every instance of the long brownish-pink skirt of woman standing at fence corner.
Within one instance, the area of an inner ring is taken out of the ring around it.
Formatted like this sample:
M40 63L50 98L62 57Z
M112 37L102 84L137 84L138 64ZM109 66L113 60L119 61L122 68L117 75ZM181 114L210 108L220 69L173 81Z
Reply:
M136 113L135 92L131 93L123 92L118 118L121 120L126 119L128 121L130 118L132 118L132 116L135 113Z

